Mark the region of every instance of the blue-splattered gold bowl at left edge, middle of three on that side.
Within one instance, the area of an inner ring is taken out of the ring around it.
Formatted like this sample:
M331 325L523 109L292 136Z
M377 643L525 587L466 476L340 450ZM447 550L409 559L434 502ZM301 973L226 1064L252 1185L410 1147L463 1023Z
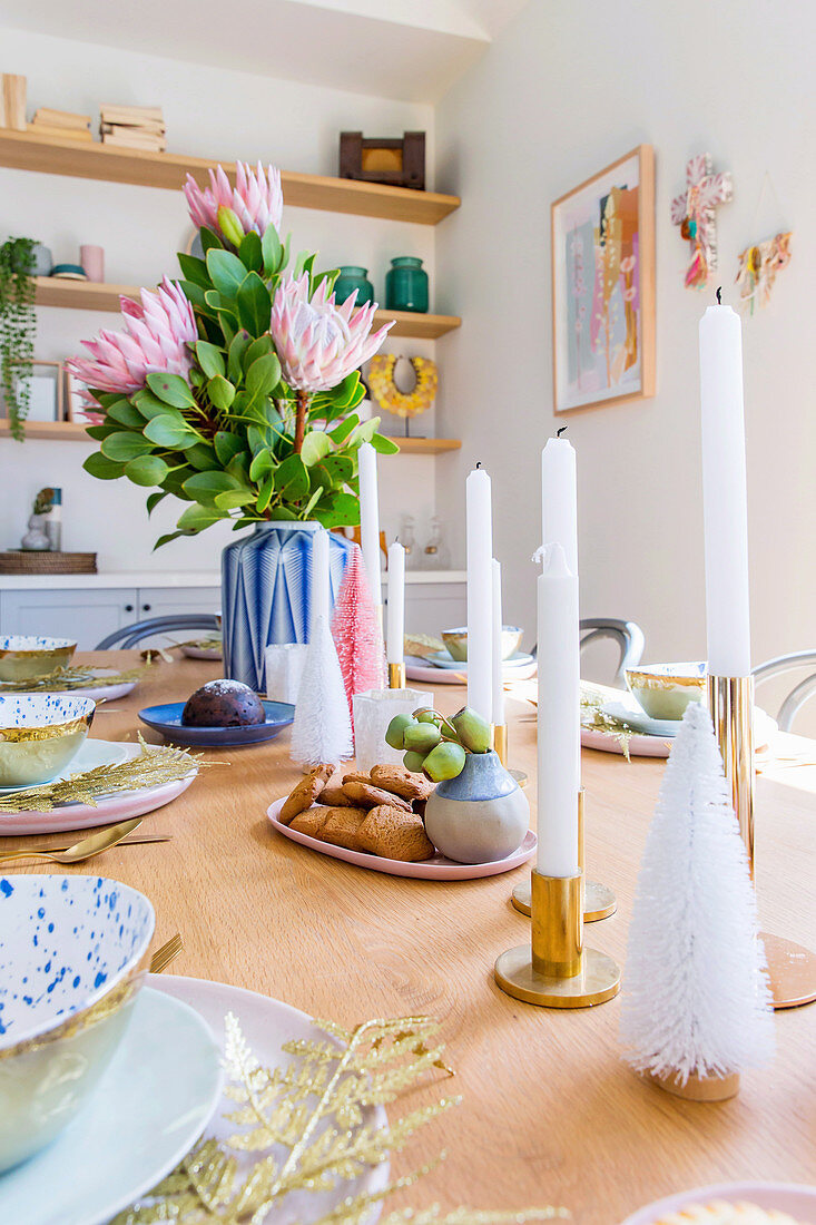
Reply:
M91 697L0 695L0 788L55 778L85 744L94 710Z

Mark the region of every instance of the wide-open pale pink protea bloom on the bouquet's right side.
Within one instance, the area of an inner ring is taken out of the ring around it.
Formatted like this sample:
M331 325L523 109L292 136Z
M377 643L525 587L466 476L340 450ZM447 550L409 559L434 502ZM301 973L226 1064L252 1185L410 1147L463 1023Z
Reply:
M376 305L358 307L355 303L353 293L337 306L326 281L310 299L308 273L281 282L270 332L283 376L295 391L328 391L377 352L393 323L370 334Z

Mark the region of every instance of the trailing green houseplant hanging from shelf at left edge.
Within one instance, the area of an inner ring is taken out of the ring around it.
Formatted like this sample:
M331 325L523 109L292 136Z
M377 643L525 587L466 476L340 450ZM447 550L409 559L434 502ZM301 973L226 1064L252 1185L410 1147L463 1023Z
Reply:
M22 441L31 401L37 315L34 311L34 239L10 238L0 246L0 386L9 429Z

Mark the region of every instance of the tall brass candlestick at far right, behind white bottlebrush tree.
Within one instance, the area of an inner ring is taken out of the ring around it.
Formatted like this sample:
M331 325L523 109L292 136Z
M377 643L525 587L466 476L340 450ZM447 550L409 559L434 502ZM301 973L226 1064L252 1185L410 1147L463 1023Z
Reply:
M754 876L754 677L708 676L708 709L723 756L731 802ZM816 1000L816 953L771 932L760 932L774 1008Z

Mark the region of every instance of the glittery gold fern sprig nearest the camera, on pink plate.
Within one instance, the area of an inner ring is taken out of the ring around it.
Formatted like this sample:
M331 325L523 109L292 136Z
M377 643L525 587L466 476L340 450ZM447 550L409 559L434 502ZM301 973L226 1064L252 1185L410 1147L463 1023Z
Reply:
M287 1042L285 1067L266 1068L250 1050L238 1019L225 1018L224 1063L234 1102L224 1120L235 1128L223 1143L206 1139L138 1204L111 1225L272 1225L276 1208L294 1192L326 1192L358 1178L398 1152L421 1126L458 1104L442 1098L386 1127L366 1112L386 1105L434 1067L445 1067L439 1025L428 1017L368 1020L353 1030L315 1022L325 1040ZM249 1167L246 1154L251 1154ZM442 1154L444 1156L444 1154ZM435 1164L435 1163L434 1163ZM379 1191L352 1194L311 1225L366 1225L393 1191L413 1186L424 1166ZM564 1209L479 1213L437 1207L392 1213L383 1225L501 1225L567 1218Z

